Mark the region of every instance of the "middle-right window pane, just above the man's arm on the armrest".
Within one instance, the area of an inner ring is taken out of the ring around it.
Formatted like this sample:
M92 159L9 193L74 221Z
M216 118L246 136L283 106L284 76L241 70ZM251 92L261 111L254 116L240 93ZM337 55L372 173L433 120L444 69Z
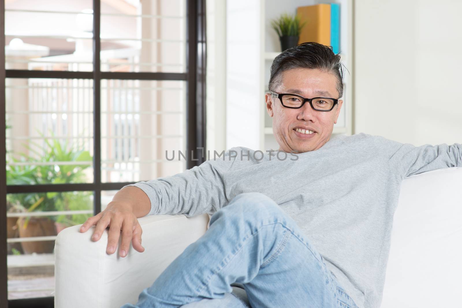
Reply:
M183 81L101 81L101 177L138 182L182 172L186 149Z

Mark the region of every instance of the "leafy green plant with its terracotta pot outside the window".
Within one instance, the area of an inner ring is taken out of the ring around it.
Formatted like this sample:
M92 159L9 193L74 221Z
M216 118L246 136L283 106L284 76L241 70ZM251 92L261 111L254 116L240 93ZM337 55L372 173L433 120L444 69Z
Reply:
M25 162L21 165L7 165L6 179L9 185L36 185L36 184L64 184L85 182L85 170L90 167L87 164L60 164L61 162L91 161L88 151L73 147L68 142L59 142L57 139L45 140L45 149L41 153L40 145L30 142L33 147L26 146L30 153L36 154L37 158L28 154L19 154L19 158L10 155L11 162ZM41 165L40 163L47 163ZM56 162L52 164L52 162ZM32 211L62 211L89 209L91 205L90 192L43 192L9 194L8 201L24 206L27 212ZM19 237L54 236L63 226L79 224L90 217L90 214L58 215L21 217L17 221ZM66 217L67 220L65 219ZM57 230L58 229L58 230ZM54 249L53 241L22 242L24 253L51 253Z

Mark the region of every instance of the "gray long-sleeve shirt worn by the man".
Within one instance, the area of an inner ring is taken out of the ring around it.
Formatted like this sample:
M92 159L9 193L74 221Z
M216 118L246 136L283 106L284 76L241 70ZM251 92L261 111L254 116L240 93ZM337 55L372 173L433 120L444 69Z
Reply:
M225 157L134 185L149 196L149 214L213 214L241 193L269 196L297 222L360 308L378 308L382 300L403 178L462 166L460 144L414 147L366 134L334 137L297 160L275 154L261 159L261 152L231 148Z

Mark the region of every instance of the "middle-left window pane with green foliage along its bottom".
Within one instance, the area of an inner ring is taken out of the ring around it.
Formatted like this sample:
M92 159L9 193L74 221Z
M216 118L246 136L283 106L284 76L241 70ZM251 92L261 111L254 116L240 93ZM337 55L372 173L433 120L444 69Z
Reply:
M93 182L93 82L6 79L9 185Z

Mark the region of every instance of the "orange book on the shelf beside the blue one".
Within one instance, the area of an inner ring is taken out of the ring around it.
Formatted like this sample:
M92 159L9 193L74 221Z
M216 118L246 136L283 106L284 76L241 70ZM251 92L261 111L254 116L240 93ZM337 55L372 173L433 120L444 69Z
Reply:
M298 39L298 44L306 41L330 46L330 4L299 6L297 15L300 23L305 23Z

